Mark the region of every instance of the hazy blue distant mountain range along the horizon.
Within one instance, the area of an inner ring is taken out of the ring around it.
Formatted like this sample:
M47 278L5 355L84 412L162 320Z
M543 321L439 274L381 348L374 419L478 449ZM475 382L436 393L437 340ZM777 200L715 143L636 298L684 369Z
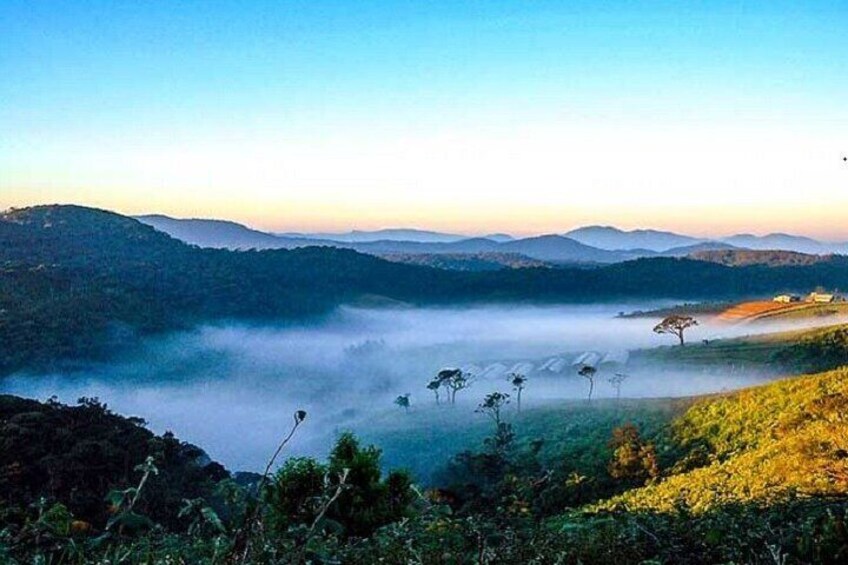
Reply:
M138 216L138 220L186 243L221 249L294 249L329 246L353 249L361 253L406 258L415 255L451 255L442 264L483 265L481 254L509 256L508 263L526 265L530 261L552 265L609 264L642 257L684 257L707 251L776 250L807 254L829 254L848 251L848 244L831 244L807 237L787 234L755 236L734 235L717 240L699 239L658 230L624 231L611 226L589 226L564 235L542 235L516 239L506 234L465 237L416 229L352 231L347 233L272 234L235 222L222 220L181 220L162 215ZM476 260L463 262L460 255L474 255ZM497 263L498 261L495 261Z

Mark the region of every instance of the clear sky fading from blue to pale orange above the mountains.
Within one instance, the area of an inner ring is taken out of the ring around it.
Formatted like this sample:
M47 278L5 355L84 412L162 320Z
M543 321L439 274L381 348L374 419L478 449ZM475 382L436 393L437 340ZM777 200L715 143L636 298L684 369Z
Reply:
M0 208L848 239L848 2L0 0Z

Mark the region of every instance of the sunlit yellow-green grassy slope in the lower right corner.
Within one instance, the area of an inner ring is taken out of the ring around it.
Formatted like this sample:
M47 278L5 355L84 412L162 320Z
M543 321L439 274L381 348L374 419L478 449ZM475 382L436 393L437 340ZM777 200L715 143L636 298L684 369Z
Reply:
M602 508L702 512L848 493L848 369L701 400L673 429L683 446L706 446L712 462Z

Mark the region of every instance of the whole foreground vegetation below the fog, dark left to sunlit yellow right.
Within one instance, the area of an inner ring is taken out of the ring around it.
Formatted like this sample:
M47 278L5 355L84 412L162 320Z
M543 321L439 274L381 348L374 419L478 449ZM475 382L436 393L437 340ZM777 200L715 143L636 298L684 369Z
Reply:
M481 401L488 435L423 491L406 472L384 472L380 450L350 434L326 462L294 458L265 477L233 477L94 401L6 397L0 555L18 563L848 558L848 370L649 408L641 419L634 404L612 401L520 418L508 403L507 395ZM304 418L295 416L295 437ZM56 439L22 449L25 438L58 430L58 419L74 430L70 449ZM113 446L115 433L134 447Z

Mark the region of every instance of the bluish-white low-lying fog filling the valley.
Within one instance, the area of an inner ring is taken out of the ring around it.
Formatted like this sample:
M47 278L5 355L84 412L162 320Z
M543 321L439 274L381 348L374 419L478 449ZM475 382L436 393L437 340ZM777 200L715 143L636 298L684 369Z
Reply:
M627 350L674 343L651 331L656 319L616 318L622 311L660 305L343 308L320 324L204 327L148 341L129 358L86 371L15 375L0 381L0 391L41 400L56 395L68 403L99 397L120 414L145 418L156 432L172 430L200 445L231 469L259 470L298 408L309 417L290 454L323 455L341 430L367 435L369 421L403 417L393 403L401 394L411 394L414 410L438 414L425 386L447 366L477 375L452 409L467 412L469 419L481 418L473 408L486 393L512 392L506 374L515 368L530 377L525 406L584 397L586 382L573 365L580 354L608 357L612 374L622 370L614 362L626 360ZM688 337L750 331L706 324ZM630 377L623 397L713 392L763 375L640 370ZM595 396L613 394L599 375Z

